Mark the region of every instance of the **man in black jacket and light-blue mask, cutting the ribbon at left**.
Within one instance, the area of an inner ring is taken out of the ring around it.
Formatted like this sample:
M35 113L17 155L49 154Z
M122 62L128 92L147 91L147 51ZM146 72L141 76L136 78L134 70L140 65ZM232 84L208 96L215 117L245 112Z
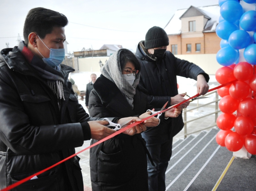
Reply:
M0 52L0 189L69 157L84 140L116 132L105 126L107 121L89 117L74 95L67 79L74 69L61 64L67 22L56 11L31 9L24 24L25 42ZM126 133L141 133L144 128ZM15 190L82 191L79 157Z

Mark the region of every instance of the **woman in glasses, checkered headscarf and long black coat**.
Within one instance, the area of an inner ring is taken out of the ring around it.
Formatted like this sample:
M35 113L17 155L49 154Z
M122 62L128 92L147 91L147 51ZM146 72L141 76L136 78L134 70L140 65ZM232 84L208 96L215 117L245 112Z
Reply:
M138 85L140 64L128 49L120 49L101 67L101 76L94 83L89 96L89 112L93 117L148 117L152 109L147 95ZM164 104L163 104L164 105ZM162 106L161 106L162 107ZM160 110L160 109L156 109ZM146 112L146 113L145 113ZM160 116L160 124L168 124L168 117L177 117L181 107ZM147 128L158 128L159 120L150 118ZM97 142L92 140L91 144ZM141 134L121 133L90 149L92 190L147 191L147 149Z

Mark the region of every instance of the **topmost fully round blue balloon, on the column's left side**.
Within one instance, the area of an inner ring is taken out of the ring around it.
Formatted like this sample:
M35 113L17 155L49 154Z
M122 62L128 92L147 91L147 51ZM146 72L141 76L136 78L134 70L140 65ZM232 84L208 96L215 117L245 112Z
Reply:
M226 1L220 7L220 15L228 22L236 22L243 13L242 6L236 1Z

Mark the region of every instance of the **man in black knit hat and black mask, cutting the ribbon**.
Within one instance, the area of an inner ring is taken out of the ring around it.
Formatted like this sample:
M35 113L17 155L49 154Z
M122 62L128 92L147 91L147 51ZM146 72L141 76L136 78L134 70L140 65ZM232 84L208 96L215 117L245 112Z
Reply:
M148 30L145 41L139 42L136 56L141 63L140 85L148 91L149 103L161 108L169 101L168 106L185 100L186 94L178 94L176 76L183 76L197 80L197 93L204 95L209 86L208 74L200 67L186 60L176 58L170 51L166 51L169 38L164 29L154 26ZM182 104L187 107L189 101ZM172 154L172 140L184 123L182 115L169 118L169 126L147 128L142 137L155 163L148 161L148 186L150 191L165 190L165 171Z

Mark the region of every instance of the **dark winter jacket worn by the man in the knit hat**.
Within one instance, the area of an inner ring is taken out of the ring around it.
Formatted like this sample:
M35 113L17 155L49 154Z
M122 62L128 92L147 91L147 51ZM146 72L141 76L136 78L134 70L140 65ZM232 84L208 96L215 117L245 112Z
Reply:
M144 41L138 44L135 55L141 63L140 85L148 91L149 103L155 107L161 108L167 101L170 106L170 97L178 94L176 76L196 80L199 74L203 74L206 81L209 81L209 75L204 70L191 62L176 58L170 51L166 51L166 57L163 60L157 61L145 49ZM166 142L170 136L179 133L183 126L182 115L179 115L171 119L168 129L152 128L144 132L144 139L151 144ZM166 131L169 133L164 134Z

